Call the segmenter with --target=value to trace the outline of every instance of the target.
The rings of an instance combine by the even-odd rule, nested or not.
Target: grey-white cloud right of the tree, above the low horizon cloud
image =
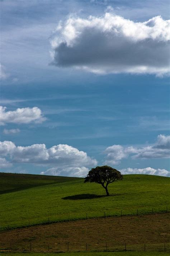
[[[124,158],[131,155],[132,158],[169,158],[170,157],[170,136],[158,135],[157,142],[143,148],[123,147],[113,145],[105,149],[105,164],[117,165]]]

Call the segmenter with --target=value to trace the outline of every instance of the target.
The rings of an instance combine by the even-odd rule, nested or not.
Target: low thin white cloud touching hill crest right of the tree
[[[120,170],[122,174],[150,174],[150,175],[159,175],[170,177],[170,171],[165,169],[154,169],[151,167],[137,169],[137,168],[127,168]]]

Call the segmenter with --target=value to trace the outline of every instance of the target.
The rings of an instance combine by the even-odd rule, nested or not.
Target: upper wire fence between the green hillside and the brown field
[[[38,223],[33,223],[32,221],[28,220],[27,223],[23,224],[23,225],[17,225],[17,226],[13,226],[12,224],[8,224],[6,226],[1,226],[0,227],[0,232],[4,232],[4,231],[10,231],[13,229],[17,229],[17,228],[27,228],[30,226],[37,226],[37,225],[47,225],[47,224],[52,224],[52,223],[60,223],[60,222],[68,222],[68,221],[76,221],[76,220],[85,220],[85,219],[94,219],[94,218],[103,218],[103,217],[122,217],[122,216],[138,216],[138,215],[148,215],[148,214],[163,214],[163,213],[168,213],[169,208],[166,206],[165,209],[160,210],[155,210],[154,208],[148,209],[147,211],[143,212],[142,209],[136,209],[136,211],[134,211],[133,213],[129,213],[127,214],[124,213],[124,210],[120,210],[119,212],[114,213],[108,213],[106,211],[104,211],[103,213],[101,213],[100,216],[93,216],[93,214],[85,212],[84,213],[84,217],[71,217],[70,214],[68,214],[68,217],[65,219],[57,219],[57,217],[54,219],[54,217],[47,217],[46,220],[43,220],[41,222]]]

